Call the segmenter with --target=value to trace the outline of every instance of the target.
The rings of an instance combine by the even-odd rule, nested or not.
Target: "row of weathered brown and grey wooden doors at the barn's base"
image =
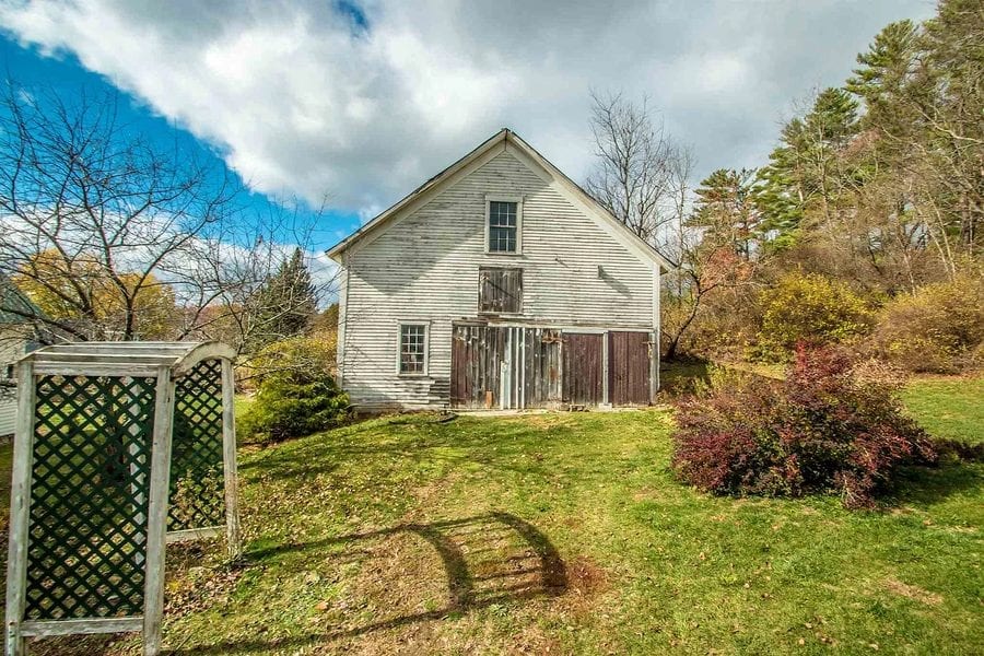
[[[456,324],[452,405],[489,409],[647,405],[649,335]]]

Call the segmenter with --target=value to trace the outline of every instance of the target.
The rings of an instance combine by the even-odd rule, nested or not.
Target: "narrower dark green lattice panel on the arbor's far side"
[[[167,530],[225,523],[222,363],[206,360],[176,382]]]

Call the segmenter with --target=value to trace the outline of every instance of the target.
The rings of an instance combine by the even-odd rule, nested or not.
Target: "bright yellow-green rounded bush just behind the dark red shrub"
[[[860,296],[813,273],[789,273],[759,301],[762,328],[752,355],[770,362],[788,361],[797,342],[842,342],[867,332],[871,324]]]

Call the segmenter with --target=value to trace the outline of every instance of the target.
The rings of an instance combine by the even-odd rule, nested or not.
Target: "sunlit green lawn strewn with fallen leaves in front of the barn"
[[[950,405],[973,433],[984,417],[970,391]],[[930,430],[960,430],[912,409]],[[670,430],[665,411],[406,415],[244,448],[246,558],[168,548],[165,642],[186,654],[981,653],[984,466],[910,471],[880,512],[713,497],[673,482]]]

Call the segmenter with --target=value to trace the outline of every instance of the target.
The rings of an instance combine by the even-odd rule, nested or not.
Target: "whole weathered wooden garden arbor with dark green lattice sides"
[[[154,656],[167,542],[221,535],[224,519],[239,555],[234,356],[86,342],[17,364],[8,656],[31,636],[141,630]]]

